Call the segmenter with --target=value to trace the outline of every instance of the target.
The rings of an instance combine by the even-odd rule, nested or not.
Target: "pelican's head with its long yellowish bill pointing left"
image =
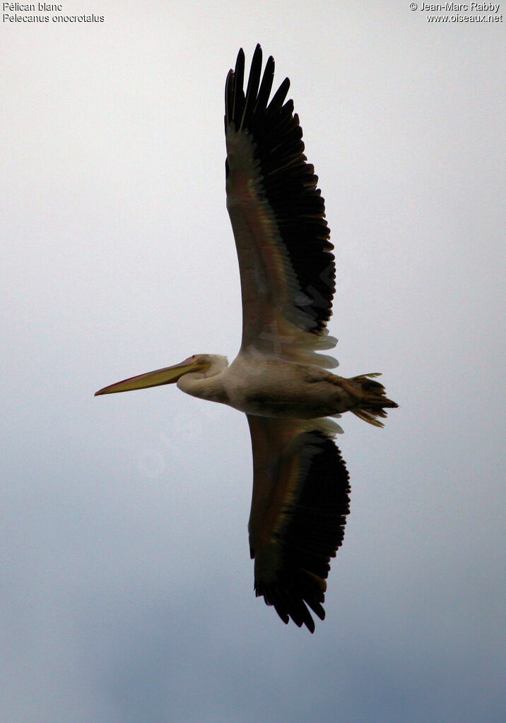
[[[214,376],[226,369],[227,365],[226,356],[219,356],[218,354],[193,354],[193,356],[188,356],[185,361],[174,364],[173,367],[155,369],[154,372],[140,374],[138,377],[130,377],[129,379],[124,379],[121,382],[116,382],[108,387],[99,389],[98,392],[95,393],[95,396],[173,384],[190,372],[203,372],[202,374],[198,374],[198,377]],[[197,377],[197,375],[195,375],[195,377]]]

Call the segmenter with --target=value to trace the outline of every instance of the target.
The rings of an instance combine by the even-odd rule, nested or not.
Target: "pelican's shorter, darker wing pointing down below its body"
[[[326,419],[248,416],[253,447],[250,552],[255,591],[288,623],[323,620],[330,558],[345,533],[348,473]],[[308,607],[307,607],[308,606]]]

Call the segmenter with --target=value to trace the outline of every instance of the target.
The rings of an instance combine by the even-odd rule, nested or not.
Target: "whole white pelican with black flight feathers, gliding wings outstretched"
[[[253,54],[246,92],[241,48],[225,86],[226,188],[240,268],[243,338],[232,364],[193,354],[180,364],[109,385],[96,395],[176,382],[248,419],[253,498],[248,525],[256,596],[313,633],[324,620],[330,558],[344,536],[349,478],[329,417],[351,411],[382,427],[387,398],[377,374],[345,379],[326,324],[335,291],[318,176],[285,78],[271,96],[274,59]]]

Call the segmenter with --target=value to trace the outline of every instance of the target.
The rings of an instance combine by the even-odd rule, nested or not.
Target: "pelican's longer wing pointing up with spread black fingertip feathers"
[[[227,208],[243,297],[241,351],[335,367],[326,322],[335,268],[318,176],[303,153],[302,129],[285,78],[271,100],[274,59],[263,76],[256,46],[246,93],[244,53],[225,88]]]

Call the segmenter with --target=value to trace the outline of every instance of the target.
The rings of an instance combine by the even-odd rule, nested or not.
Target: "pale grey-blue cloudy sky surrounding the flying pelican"
[[[505,22],[63,12],[105,22],[0,26],[2,719],[502,722]],[[93,398],[237,352],[223,90],[257,42],[326,199],[340,371],[400,403],[383,430],[342,419],[352,508],[314,636],[253,595],[244,417]]]

